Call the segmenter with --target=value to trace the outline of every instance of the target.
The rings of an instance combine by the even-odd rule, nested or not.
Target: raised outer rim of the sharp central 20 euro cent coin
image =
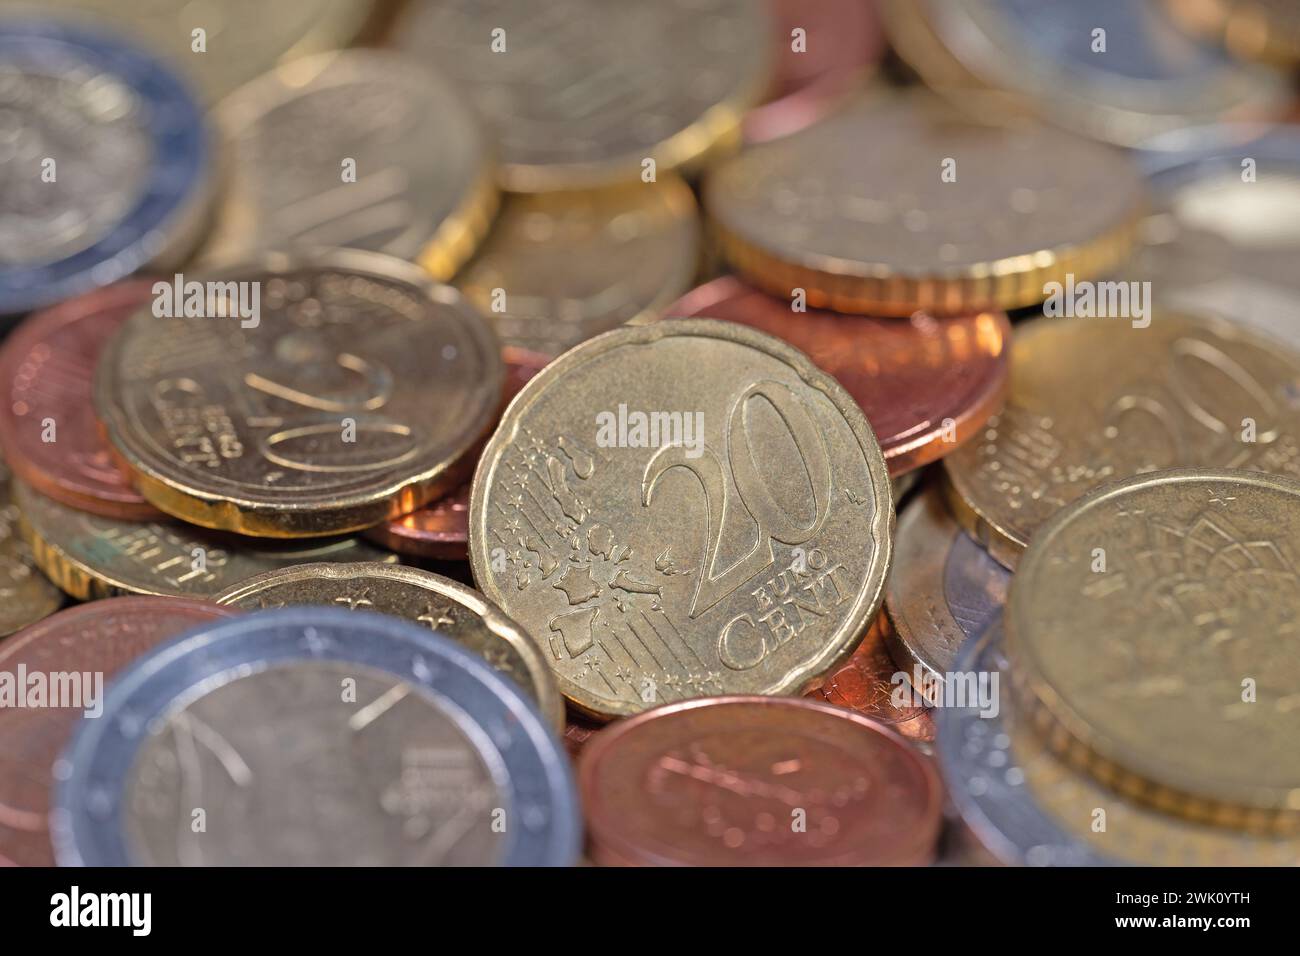
[[[853,654],[863,633],[866,633],[867,622],[875,617],[884,602],[884,585],[893,557],[893,483],[889,477],[889,468],[885,464],[884,454],[880,451],[880,444],[876,441],[875,432],[871,431],[871,425],[867,424],[867,419],[858,407],[858,403],[845,392],[844,386],[833,376],[827,375],[812,364],[812,360],[803,352],[774,336],[751,329],[748,325],[738,325],[722,319],[663,319],[650,325],[627,325],[586,339],[529,378],[506,408],[500,423],[497,425],[497,431],[493,432],[491,438],[488,440],[484,447],[482,455],[478,459],[478,467],[474,470],[474,479],[469,490],[469,567],[474,583],[489,601],[493,601],[510,614],[510,607],[506,602],[507,596],[497,587],[485,551],[488,493],[490,490],[495,459],[499,458],[502,447],[514,441],[520,418],[526,406],[533,402],[536,394],[571,369],[585,364],[590,358],[624,346],[653,346],[654,342],[670,337],[720,339],[754,349],[789,365],[790,371],[807,388],[820,392],[844,418],[846,427],[858,440],[867,473],[872,477],[876,511],[871,520],[872,537],[876,541],[878,554],[874,564],[879,567],[879,572],[872,575],[874,568],[868,564],[863,585],[858,591],[855,613],[824,643],[819,654],[807,663],[786,671],[767,692],[770,696],[797,696],[805,689],[814,687],[822,675],[833,671]],[[875,578],[874,583],[872,578]],[[547,663],[550,663],[549,657]],[[560,674],[555,674],[555,680],[566,700],[589,717],[607,721],[611,717],[629,717],[645,710],[645,708],[634,708],[630,704],[602,710],[592,702],[592,696],[585,688],[576,684],[571,685]]]

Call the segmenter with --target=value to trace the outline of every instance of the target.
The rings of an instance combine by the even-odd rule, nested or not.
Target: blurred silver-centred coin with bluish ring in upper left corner
[[[0,78],[0,315],[190,252],[212,198],[212,143],[170,66],[110,34],[6,20]]]

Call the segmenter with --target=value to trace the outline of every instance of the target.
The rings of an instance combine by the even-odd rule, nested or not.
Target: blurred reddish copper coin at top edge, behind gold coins
[[[770,5],[775,77],[768,101],[745,113],[741,129],[750,143],[820,120],[871,75],[885,47],[874,0],[771,0]]]

